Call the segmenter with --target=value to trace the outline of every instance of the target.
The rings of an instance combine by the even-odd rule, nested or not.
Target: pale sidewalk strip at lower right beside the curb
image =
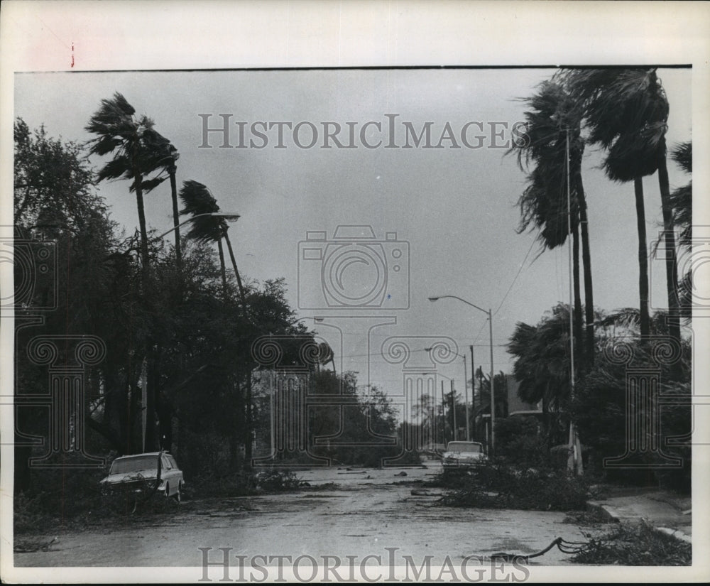
[[[664,490],[635,489],[587,501],[591,509],[603,512],[613,521],[647,521],[658,531],[691,543],[692,513],[690,497]]]

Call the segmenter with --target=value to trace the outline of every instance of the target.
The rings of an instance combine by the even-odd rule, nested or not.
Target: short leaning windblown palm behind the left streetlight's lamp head
[[[244,286],[241,283],[239,269],[236,266],[234,251],[231,248],[231,242],[229,242],[226,219],[223,217],[203,215],[219,212],[217,200],[214,199],[214,196],[209,192],[207,187],[193,180],[187,180],[182,183],[180,199],[184,205],[180,211],[180,215],[191,215],[194,218],[191,222],[192,227],[190,231],[187,232],[187,237],[195,239],[197,242],[217,242],[219,263],[222,267],[222,287],[226,294],[226,270],[224,265],[224,249],[222,247],[222,239],[224,238],[227,249],[229,249],[229,256],[232,267],[234,268],[236,283],[239,286],[239,298],[244,311],[246,311],[246,295],[244,293]]]

